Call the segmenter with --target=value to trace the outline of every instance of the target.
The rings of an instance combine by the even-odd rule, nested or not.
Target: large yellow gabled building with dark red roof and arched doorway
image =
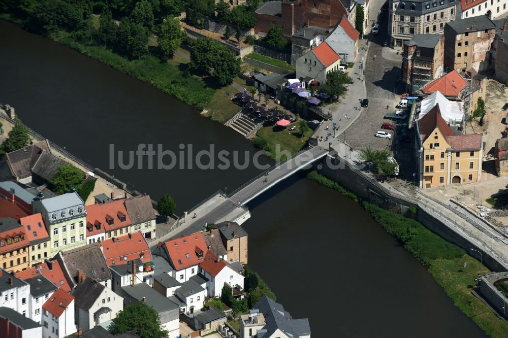
[[[415,123],[421,188],[480,181],[482,134],[463,135],[453,131],[441,116],[439,105]]]

